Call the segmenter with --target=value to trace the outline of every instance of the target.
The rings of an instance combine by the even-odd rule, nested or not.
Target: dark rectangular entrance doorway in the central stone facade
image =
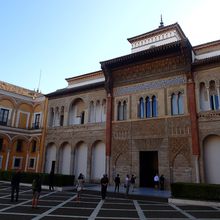
[[[154,187],[154,176],[158,173],[158,152],[140,151],[140,187]]]

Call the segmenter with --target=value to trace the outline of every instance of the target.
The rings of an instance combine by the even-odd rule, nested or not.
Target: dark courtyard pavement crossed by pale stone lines
[[[0,182],[0,220],[26,219],[220,219],[220,207],[173,205],[164,198],[108,193],[101,200],[99,192],[85,190],[80,201],[73,191],[43,190],[37,209],[31,208],[32,191],[21,186],[19,201],[10,201],[10,185]]]

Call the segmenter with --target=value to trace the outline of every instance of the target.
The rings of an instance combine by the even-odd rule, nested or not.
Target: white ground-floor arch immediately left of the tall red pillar
[[[100,180],[105,173],[105,144],[98,141],[92,148],[92,179]]]

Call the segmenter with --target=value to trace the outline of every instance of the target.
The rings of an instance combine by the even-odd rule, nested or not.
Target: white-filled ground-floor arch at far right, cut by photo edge
[[[220,137],[211,135],[203,142],[206,183],[220,184]]]

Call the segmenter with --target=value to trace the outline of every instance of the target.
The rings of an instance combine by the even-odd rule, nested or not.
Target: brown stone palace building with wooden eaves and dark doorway
[[[220,41],[192,47],[178,23],[48,94],[45,171],[220,183]]]

